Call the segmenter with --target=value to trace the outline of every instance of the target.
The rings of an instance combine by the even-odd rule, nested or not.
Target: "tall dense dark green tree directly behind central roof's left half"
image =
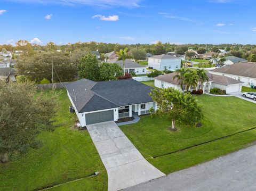
[[[95,55],[88,54],[79,60],[78,74],[80,78],[99,80],[99,61]]]

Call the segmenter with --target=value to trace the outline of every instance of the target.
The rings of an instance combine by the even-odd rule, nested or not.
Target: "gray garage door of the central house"
[[[114,111],[101,111],[85,114],[86,124],[101,123],[114,120]]]

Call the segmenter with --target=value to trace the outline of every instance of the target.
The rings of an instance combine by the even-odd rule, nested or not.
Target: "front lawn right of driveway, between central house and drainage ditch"
[[[168,130],[171,122],[150,116],[138,123],[121,126],[125,135],[145,157],[163,155],[182,148],[228,136],[256,127],[254,104],[236,97],[197,96],[203,105],[204,119],[200,128],[177,124],[178,131]]]

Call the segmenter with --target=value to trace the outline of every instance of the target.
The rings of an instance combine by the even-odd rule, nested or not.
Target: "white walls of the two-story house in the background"
[[[148,59],[148,67],[153,67],[156,70],[178,70],[180,69],[181,58],[177,57],[177,59]],[[176,68],[177,67],[177,68]]]

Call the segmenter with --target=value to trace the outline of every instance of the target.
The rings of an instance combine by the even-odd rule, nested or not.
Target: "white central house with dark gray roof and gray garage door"
[[[81,79],[67,86],[68,97],[81,126],[148,114],[156,110],[149,96],[152,87],[133,79],[91,81]]]

